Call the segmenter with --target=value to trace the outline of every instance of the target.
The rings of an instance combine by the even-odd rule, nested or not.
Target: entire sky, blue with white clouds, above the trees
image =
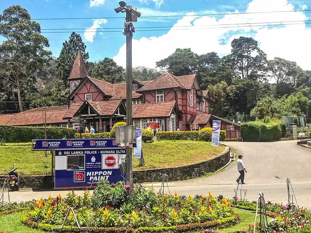
[[[54,57],[58,57],[62,43],[68,40],[70,29],[79,28],[90,61],[99,61],[104,57],[114,58],[119,64],[125,64],[125,36],[122,32],[84,33],[86,28],[93,26],[100,28],[122,28],[124,19],[108,19],[122,17],[116,14],[115,0],[2,0],[0,10],[11,5],[21,5],[26,8],[32,19],[39,18],[74,18],[99,17],[101,19],[81,20],[35,20],[44,29],[67,28],[68,33],[43,33],[49,39]],[[258,12],[311,9],[309,0],[132,0],[128,5],[138,8],[142,16],[213,14],[227,12]],[[166,18],[139,18],[134,24],[137,32],[133,38],[133,65],[155,67],[155,62],[167,57],[176,48],[191,48],[196,53],[217,52],[220,56],[230,53],[230,42],[239,36],[252,36],[257,39],[268,58],[275,56],[297,61],[304,69],[311,69],[310,62],[306,62],[304,54],[311,53],[310,25],[281,25],[261,27],[234,27],[221,29],[205,29],[208,25],[230,23],[265,23],[274,21],[303,21],[311,19],[311,11],[288,12],[274,14],[249,14],[227,16],[188,16]],[[303,22],[302,22],[303,23]],[[280,23],[282,24],[282,23]],[[138,27],[168,27],[165,31],[139,31]],[[172,29],[171,27],[174,28]],[[187,30],[183,26],[188,26]],[[197,28],[196,28],[197,27]],[[203,28],[202,28],[203,27]],[[211,26],[217,27],[217,26]],[[159,29],[159,28],[157,28]],[[161,28],[163,29],[163,28]],[[95,29],[90,29],[94,31]],[[122,29],[117,29],[122,31]],[[51,30],[59,31],[59,30]],[[92,36],[92,34],[94,34]],[[281,42],[281,43],[280,43]],[[284,49],[286,46],[286,49]],[[310,68],[309,68],[310,66]]]

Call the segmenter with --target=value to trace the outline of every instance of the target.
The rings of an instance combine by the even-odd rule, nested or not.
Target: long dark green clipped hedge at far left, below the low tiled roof
[[[7,143],[44,139],[44,132],[44,127],[0,125],[0,138],[3,138]],[[76,130],[71,128],[46,127],[47,139],[72,139],[75,133]]]

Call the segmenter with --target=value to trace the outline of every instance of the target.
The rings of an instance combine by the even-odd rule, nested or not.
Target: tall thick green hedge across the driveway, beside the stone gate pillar
[[[267,124],[249,121],[241,124],[241,136],[245,142],[264,142],[278,140],[284,136],[285,124]]]

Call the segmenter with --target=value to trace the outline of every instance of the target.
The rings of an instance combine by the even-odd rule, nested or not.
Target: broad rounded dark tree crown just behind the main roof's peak
[[[195,54],[190,48],[177,48],[169,57],[156,62],[156,65],[173,75],[180,76],[193,74],[195,63]]]

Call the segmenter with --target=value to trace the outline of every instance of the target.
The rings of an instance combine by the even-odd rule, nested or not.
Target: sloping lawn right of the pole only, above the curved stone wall
[[[143,143],[145,166],[138,167],[139,158],[133,159],[133,170],[176,167],[200,162],[223,152],[225,146],[211,146],[211,142],[201,141],[154,141]]]

